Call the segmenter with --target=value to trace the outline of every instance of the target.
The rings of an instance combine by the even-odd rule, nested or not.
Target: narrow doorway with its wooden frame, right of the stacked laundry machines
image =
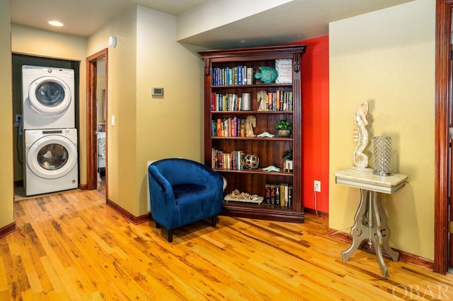
[[[108,199],[108,49],[88,57],[86,69],[87,188],[98,189]]]

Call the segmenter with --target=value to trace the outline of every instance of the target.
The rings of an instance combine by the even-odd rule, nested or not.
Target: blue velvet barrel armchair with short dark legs
[[[193,160],[169,158],[149,165],[148,182],[151,216],[157,228],[168,230],[168,242],[182,225],[212,218],[215,227],[223,200],[218,172]]]

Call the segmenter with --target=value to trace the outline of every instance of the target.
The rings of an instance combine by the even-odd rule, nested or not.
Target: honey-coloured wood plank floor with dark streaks
[[[327,222],[219,217],[174,231],[127,223],[98,191],[15,203],[0,239],[0,300],[453,300],[453,275],[386,259],[325,234]]]

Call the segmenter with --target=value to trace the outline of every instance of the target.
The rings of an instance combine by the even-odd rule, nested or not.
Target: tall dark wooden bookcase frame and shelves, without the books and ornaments
[[[287,45],[273,47],[254,47],[246,49],[207,50],[199,52],[205,61],[205,165],[214,167],[227,180],[225,196],[234,189],[248,194],[258,194],[265,198],[266,184],[287,184],[292,187],[291,206],[269,204],[264,200],[262,203],[247,203],[236,201],[224,201],[223,213],[227,216],[239,216],[244,218],[257,218],[265,220],[281,220],[296,223],[304,222],[304,206],[302,204],[302,97],[301,97],[301,59],[305,52],[305,45]],[[289,83],[263,83],[255,79],[255,73],[260,72],[259,66],[275,68],[275,61],[282,59],[292,60],[292,81]],[[231,81],[228,84],[219,82],[219,70],[253,69],[253,79],[250,77],[246,85]],[[239,73],[241,73],[239,71]],[[224,71],[227,73],[227,71]],[[289,73],[291,74],[291,73]],[[240,77],[240,76],[239,76]],[[225,76],[224,76],[225,78]],[[291,76],[289,76],[291,78]],[[242,80],[243,81],[243,80]],[[257,93],[265,90],[266,93],[285,94],[292,96],[292,110],[258,110]],[[283,92],[283,93],[282,93]],[[243,93],[251,93],[251,110],[222,110],[215,107],[213,97],[216,95],[237,95],[240,98]],[[289,96],[289,97],[291,97]],[[239,131],[234,131],[237,136],[216,136],[217,121],[225,119],[246,119],[249,115],[256,117],[256,127],[253,133],[258,135],[267,131],[275,134],[273,138],[244,137]],[[277,136],[274,129],[279,120],[287,120],[292,124],[292,134],[287,138]],[[214,129],[213,129],[214,126]],[[233,123],[231,126],[234,127]],[[214,133],[213,133],[214,131]],[[255,153],[260,160],[258,169],[242,170],[215,168],[213,165],[212,150],[232,153]],[[292,172],[284,171],[284,151],[293,152]],[[267,172],[264,167],[274,165],[280,168],[280,172]]]

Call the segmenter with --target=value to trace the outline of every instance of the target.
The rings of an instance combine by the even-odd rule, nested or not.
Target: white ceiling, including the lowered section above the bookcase
[[[228,0],[11,0],[11,23],[88,37],[136,5],[178,16],[207,1]],[[410,1],[293,0],[180,42],[213,49],[282,45],[328,35],[330,22]],[[51,19],[64,27],[48,25]]]

